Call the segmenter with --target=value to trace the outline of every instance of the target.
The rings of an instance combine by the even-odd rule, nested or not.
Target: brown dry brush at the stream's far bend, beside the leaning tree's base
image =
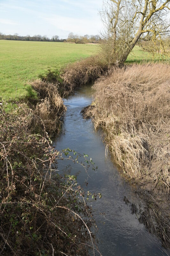
[[[108,69],[107,63],[100,55],[94,55],[69,64],[61,70],[63,91],[69,94],[78,86],[96,81]]]

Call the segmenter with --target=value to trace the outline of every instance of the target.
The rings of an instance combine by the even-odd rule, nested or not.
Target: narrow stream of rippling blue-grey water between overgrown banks
[[[120,176],[111,157],[105,156],[101,132],[95,132],[91,120],[84,120],[81,116],[81,109],[91,104],[91,101],[90,86],[77,89],[73,96],[64,99],[67,106],[64,131],[54,142],[54,146],[58,150],[71,148],[88,154],[98,166],[97,171],[89,169],[90,178],[81,169],[77,181],[83,185],[88,179],[88,187],[85,186],[84,189],[91,193],[102,193],[101,199],[90,202],[93,209],[96,209],[99,251],[103,256],[170,255],[170,252],[161,246],[159,239],[145,230],[144,225],[139,223],[137,216],[131,214],[130,207],[124,203],[124,196],[130,202],[140,202],[134,189]],[[80,171],[80,165],[68,161],[61,161],[58,169],[64,169],[67,164],[68,168],[72,168],[72,173]]]

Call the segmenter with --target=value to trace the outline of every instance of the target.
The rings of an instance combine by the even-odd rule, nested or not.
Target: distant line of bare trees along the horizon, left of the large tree
[[[0,40],[18,40],[18,41],[46,41],[46,42],[70,42],[75,44],[87,44],[87,43],[99,43],[102,39],[99,35],[84,35],[79,36],[73,34],[72,32],[68,35],[67,39],[60,39],[59,36],[52,36],[50,39],[48,36],[44,35],[34,35],[34,36],[19,36],[18,33],[14,35],[5,35],[0,32]]]

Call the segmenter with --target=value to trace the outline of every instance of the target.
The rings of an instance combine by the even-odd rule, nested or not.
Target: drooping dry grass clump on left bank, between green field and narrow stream
[[[41,119],[41,124],[46,132],[53,133],[56,130],[59,132],[66,107],[59,95],[58,84],[36,80],[32,83],[32,87],[42,99],[36,106],[36,113]]]

